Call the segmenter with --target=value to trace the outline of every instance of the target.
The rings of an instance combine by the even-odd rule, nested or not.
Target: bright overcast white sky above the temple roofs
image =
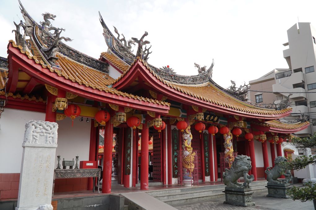
[[[57,17],[52,25],[65,28],[62,36],[94,58],[107,50],[98,11],[114,33],[140,38],[152,45],[149,63],[169,65],[178,74],[196,75],[194,62],[210,66],[213,80],[228,87],[257,79],[274,68],[288,68],[283,58],[287,30],[300,22],[316,26],[316,1],[78,1],[21,0],[38,23],[44,12]],[[7,57],[8,40],[22,19],[17,0],[0,0],[0,56]],[[134,50],[136,52],[137,49]]]

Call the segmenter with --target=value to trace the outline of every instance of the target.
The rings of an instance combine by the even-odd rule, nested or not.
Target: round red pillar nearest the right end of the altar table
[[[105,131],[104,131],[102,193],[111,193],[112,144],[113,144],[113,124],[111,124],[110,122],[107,122],[105,126]]]

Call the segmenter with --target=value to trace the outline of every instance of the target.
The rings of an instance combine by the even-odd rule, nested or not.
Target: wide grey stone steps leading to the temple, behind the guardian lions
[[[267,181],[256,181],[251,183],[253,191],[266,191]],[[222,192],[225,188],[224,184],[197,186],[178,189],[164,189],[147,192],[147,194],[163,201],[169,205],[176,205],[179,203],[187,203],[201,200],[209,200],[216,197],[224,196]]]

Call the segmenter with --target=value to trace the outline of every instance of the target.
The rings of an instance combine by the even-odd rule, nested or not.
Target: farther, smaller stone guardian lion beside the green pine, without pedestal
[[[267,181],[274,184],[280,184],[280,183],[289,183],[292,179],[292,174],[289,170],[285,170],[282,166],[282,162],[287,162],[288,160],[285,157],[277,156],[276,159],[274,159],[274,168],[271,169],[270,167],[267,167],[265,170],[265,173],[267,174]],[[285,176],[285,180],[278,179],[281,175]]]

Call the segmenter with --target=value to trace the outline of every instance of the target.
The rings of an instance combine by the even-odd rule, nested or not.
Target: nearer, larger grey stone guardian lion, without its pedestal
[[[237,155],[230,169],[225,168],[223,172],[224,184],[231,188],[248,188],[253,181],[253,175],[249,175],[251,169],[250,157],[246,155]],[[237,182],[240,177],[244,177],[243,184]]]

